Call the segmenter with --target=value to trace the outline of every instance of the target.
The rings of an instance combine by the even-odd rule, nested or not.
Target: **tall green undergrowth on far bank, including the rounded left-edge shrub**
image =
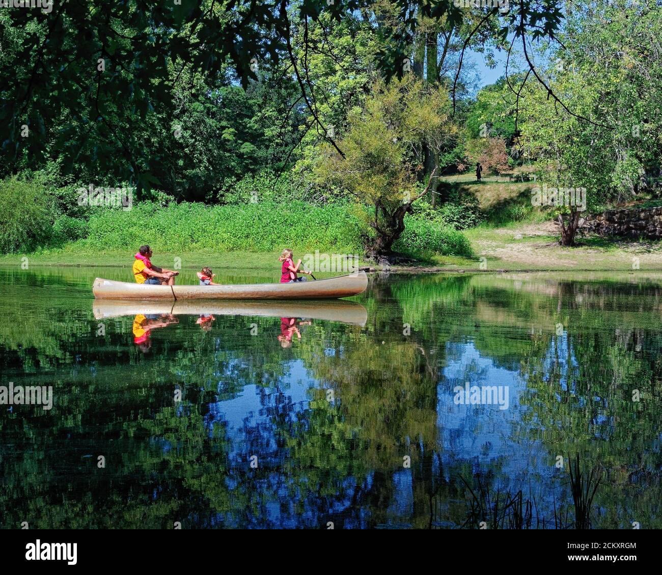
[[[52,189],[17,177],[0,181],[0,253],[50,248],[101,251],[275,251],[284,247],[363,253],[373,236],[351,202],[263,201],[210,206],[142,201],[132,209],[79,206],[75,187]],[[363,214],[365,215],[365,214]],[[469,242],[449,226],[407,217],[398,251],[470,255]]]

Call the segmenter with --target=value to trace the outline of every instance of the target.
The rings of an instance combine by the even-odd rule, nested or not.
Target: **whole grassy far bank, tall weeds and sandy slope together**
[[[459,198],[459,216],[467,218],[465,195],[477,200],[478,204],[466,204],[466,210],[479,210],[481,223],[459,232],[443,220],[426,220],[430,214],[407,216],[395,249],[415,261],[395,266],[396,271],[662,270],[660,242],[579,238],[577,247],[559,246],[558,229],[549,222],[549,214],[531,206],[530,181],[490,176],[477,183],[473,175],[459,175],[446,178],[446,183]],[[70,229],[68,239],[24,250],[27,254],[0,255],[0,265],[20,266],[26,256],[28,265],[128,268],[138,246],[149,243],[154,262],[162,267],[177,267],[179,258],[182,269],[209,265],[219,271],[270,273],[278,267],[283,247],[292,247],[301,258],[315,250],[360,255],[369,234],[356,206],[348,203],[141,202],[127,212],[91,208],[84,218],[66,218],[76,225],[68,228],[60,222],[56,231]]]

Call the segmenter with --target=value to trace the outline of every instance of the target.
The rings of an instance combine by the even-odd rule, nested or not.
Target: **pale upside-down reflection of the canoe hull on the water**
[[[94,317],[115,318],[117,316],[136,316],[144,314],[199,315],[213,314],[218,316],[268,316],[279,318],[310,318],[343,322],[363,326],[367,321],[365,308],[357,302],[337,300],[304,301],[304,302],[126,302],[124,300],[95,300],[93,304]]]

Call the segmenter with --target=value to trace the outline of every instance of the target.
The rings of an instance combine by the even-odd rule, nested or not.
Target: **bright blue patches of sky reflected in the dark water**
[[[448,343],[446,351],[447,357],[453,359],[447,361],[437,388],[437,451],[444,468],[471,461],[474,472],[495,472],[498,478],[495,487],[512,492],[521,489],[525,497],[529,496],[531,488],[531,495],[538,502],[541,498],[551,501],[551,488],[558,502],[563,494],[558,489],[561,473],[553,466],[556,454],[547,453],[538,441],[527,439],[523,433],[526,427],[522,427],[522,415],[527,408],[520,405],[520,397],[526,392],[526,381],[518,372],[498,367],[492,359],[481,355],[473,341]],[[557,351],[561,363],[567,361],[565,338],[558,350],[550,347],[545,369],[551,369]],[[296,527],[299,521],[294,509],[295,500],[291,500],[287,474],[281,468],[283,458],[287,457],[286,450],[277,443],[274,418],[280,416],[292,421],[297,414],[303,414],[308,409],[309,390],[318,384],[310,378],[302,361],[289,361],[286,367],[277,388],[269,390],[247,384],[237,396],[209,404],[205,424],[210,434],[214,426],[224,426],[231,443],[228,452],[231,466],[247,466],[250,455],[258,455],[261,467],[273,469],[265,481],[275,490],[278,499],[265,506],[268,520],[283,527]],[[228,372],[231,373],[232,369]],[[456,405],[453,388],[464,386],[465,382],[477,386],[508,386],[508,409],[500,410],[498,404]],[[218,392],[222,394],[223,391],[221,378]],[[514,436],[517,429],[520,432]],[[435,458],[435,474],[439,471],[439,463]],[[467,476],[466,479],[470,478]],[[412,470],[395,470],[391,481],[393,499],[387,509],[388,525],[404,526],[414,512]],[[348,476],[343,483],[345,489],[341,492],[350,494],[355,486],[354,478]],[[366,486],[370,484],[371,476]],[[233,485],[234,480],[228,480],[228,486]],[[351,506],[351,501],[339,496],[331,505],[329,514],[340,513]],[[226,517],[224,522],[232,520],[232,517]]]

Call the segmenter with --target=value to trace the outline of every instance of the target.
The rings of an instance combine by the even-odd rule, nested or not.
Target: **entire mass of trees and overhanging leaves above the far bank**
[[[100,216],[79,209],[75,189],[89,185],[133,187],[136,207],[354,202],[362,228],[340,245],[358,235],[375,257],[389,255],[424,189],[432,210],[419,220],[479,224],[475,202],[431,177],[476,162],[487,175],[538,161],[542,181],[583,185],[592,206],[658,193],[654,0],[568,5],[565,16],[547,0],[507,12],[428,0],[258,4],[1,11],[0,177],[46,191],[3,215],[0,250],[86,238]],[[514,50],[508,75],[477,91],[465,50],[487,66]],[[528,211],[519,203],[515,218]],[[244,249],[263,243],[240,237]]]

